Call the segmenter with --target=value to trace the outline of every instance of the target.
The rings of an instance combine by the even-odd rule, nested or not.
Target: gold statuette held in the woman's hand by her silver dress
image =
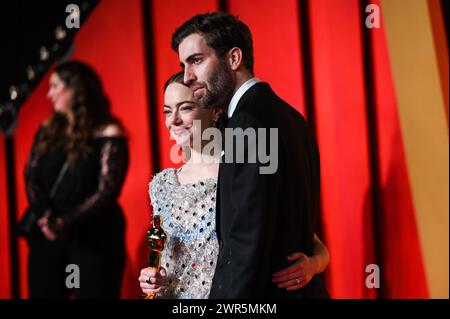
[[[150,252],[148,254],[148,269],[159,270],[161,267],[161,252],[164,249],[167,241],[167,235],[162,229],[162,216],[153,215],[152,228],[147,232],[148,246]],[[156,293],[147,294],[144,299],[155,299]]]

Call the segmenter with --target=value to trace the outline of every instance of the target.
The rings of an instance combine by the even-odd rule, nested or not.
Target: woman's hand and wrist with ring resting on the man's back
[[[323,272],[330,261],[330,254],[328,248],[314,234],[313,255],[308,257],[301,252],[295,252],[288,256],[288,260],[295,262],[275,273],[272,281],[277,283],[279,288],[292,291],[303,288],[314,275]]]

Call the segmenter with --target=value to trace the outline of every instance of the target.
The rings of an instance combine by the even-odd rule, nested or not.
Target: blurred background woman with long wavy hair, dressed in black
[[[30,297],[74,292],[76,298],[117,298],[125,260],[125,221],[117,203],[128,168],[124,129],[84,63],[56,67],[48,97],[55,112],[40,126],[25,169],[30,208],[41,216],[38,232],[28,238]],[[79,288],[66,285],[71,264],[79,269]]]

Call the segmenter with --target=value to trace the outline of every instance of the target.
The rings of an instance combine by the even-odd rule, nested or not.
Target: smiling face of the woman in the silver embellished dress
[[[192,147],[193,136],[199,129],[194,126],[194,120],[200,121],[203,132],[213,126],[218,111],[199,107],[190,88],[172,83],[164,93],[164,114],[166,127],[175,142]]]

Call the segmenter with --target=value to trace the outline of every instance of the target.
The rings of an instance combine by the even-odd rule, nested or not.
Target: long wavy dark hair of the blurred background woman
[[[95,129],[110,123],[121,128],[123,126],[111,114],[110,102],[100,78],[90,66],[79,61],[69,61],[58,65],[54,72],[66,87],[73,90],[71,112],[74,123],[70,132],[67,132],[67,118],[54,112],[42,126],[37,152],[40,157],[67,141],[68,160],[73,165],[83,153],[91,151],[88,140]]]

